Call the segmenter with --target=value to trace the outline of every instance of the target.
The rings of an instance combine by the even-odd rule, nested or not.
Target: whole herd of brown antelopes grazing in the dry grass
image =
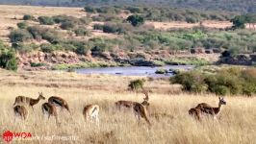
[[[148,92],[143,89],[143,93],[145,95],[145,98],[143,98],[143,101],[141,103],[133,102],[133,101],[117,101],[115,102],[115,107],[118,110],[121,110],[122,108],[129,108],[134,111],[135,117],[138,120],[138,123],[141,122],[141,118],[145,120],[145,122],[151,126],[151,122],[148,119],[147,110],[149,107],[149,97]],[[13,111],[15,117],[21,117],[21,119],[26,120],[28,117],[28,109],[26,106],[33,108],[34,105],[38,104],[39,100],[45,100],[45,97],[43,97],[42,93],[38,93],[38,99],[33,99],[25,96],[17,96],[15,98],[15,102],[13,104]],[[196,120],[201,120],[203,116],[212,116],[214,119],[217,119],[217,116],[219,112],[221,111],[221,106],[226,105],[226,102],[224,98],[218,97],[218,108],[211,107],[210,105],[206,103],[198,104],[195,108],[191,108],[189,110],[189,114],[192,115]],[[66,109],[70,114],[70,110],[68,107],[67,102],[57,96],[51,96],[48,98],[48,102],[43,103],[41,105],[41,110],[43,115],[47,116],[48,119],[51,116],[55,117],[56,124],[60,124],[58,120],[58,112],[57,108]],[[85,106],[83,109],[83,115],[85,118],[85,121],[88,122],[96,122],[97,125],[99,125],[99,106],[92,104]],[[34,108],[33,108],[34,110]]]

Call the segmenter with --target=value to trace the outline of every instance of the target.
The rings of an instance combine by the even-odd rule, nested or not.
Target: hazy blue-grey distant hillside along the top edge
[[[231,12],[256,12],[255,0],[0,0],[0,4],[81,7],[84,5],[150,5]]]

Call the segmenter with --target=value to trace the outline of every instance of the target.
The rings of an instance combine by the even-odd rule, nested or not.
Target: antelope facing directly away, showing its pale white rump
[[[95,121],[99,125],[99,106],[98,105],[88,105],[83,109],[83,115],[86,121]]]

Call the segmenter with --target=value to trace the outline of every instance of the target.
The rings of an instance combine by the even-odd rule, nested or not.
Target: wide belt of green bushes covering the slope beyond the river
[[[34,16],[30,15],[29,17]],[[41,26],[28,26],[27,22],[20,22],[18,23],[19,29],[13,30],[10,34],[16,50],[32,51],[37,47],[21,43],[32,39],[45,39],[51,44],[41,44],[39,48],[46,53],[63,50],[84,55],[91,51],[92,55],[98,55],[106,51],[112,52],[114,47],[119,47],[125,51],[135,51],[142,48],[144,50],[189,50],[192,53],[194,48],[202,47],[206,49],[205,51],[209,51],[208,53],[219,53],[222,50],[227,50],[232,55],[256,52],[256,42],[254,40],[256,33],[253,31],[223,31],[204,27],[159,31],[150,26],[142,25],[143,17],[137,14],[129,16],[125,21],[109,21],[103,25],[95,24],[93,26],[94,29],[101,30],[104,33],[121,35],[118,38],[89,38],[88,40],[64,38],[66,35],[90,36],[90,31],[86,29],[85,25],[88,25],[91,19],[87,17],[40,16],[38,21],[41,25],[59,24],[60,29],[67,30],[68,33],[64,34],[56,29]],[[136,27],[129,24],[130,22]]]

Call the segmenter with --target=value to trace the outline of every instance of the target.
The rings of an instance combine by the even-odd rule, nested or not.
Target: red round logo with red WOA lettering
[[[17,138],[27,138],[27,137],[32,137],[30,132],[4,132],[3,133],[3,139],[6,142],[10,142],[13,140],[13,137],[17,137]]]

